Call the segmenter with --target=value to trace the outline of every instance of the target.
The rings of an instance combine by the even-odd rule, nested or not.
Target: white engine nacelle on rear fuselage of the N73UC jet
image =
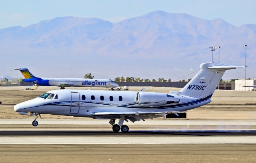
[[[137,92],[135,97],[136,103],[144,106],[159,106],[170,103],[179,103],[180,99],[166,93],[154,92]]]

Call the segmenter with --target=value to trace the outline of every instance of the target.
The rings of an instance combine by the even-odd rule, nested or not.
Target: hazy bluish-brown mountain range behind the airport
[[[30,68],[40,77],[97,78],[134,76],[178,78],[202,62],[244,65],[247,44],[248,76],[254,76],[256,25],[236,27],[218,18],[154,11],[112,23],[98,18],[59,17],[37,24],[0,29],[2,75]],[[175,69],[176,68],[176,69]],[[178,70],[177,70],[178,69]],[[242,78],[233,70],[224,78]],[[188,77],[186,77],[188,78]]]

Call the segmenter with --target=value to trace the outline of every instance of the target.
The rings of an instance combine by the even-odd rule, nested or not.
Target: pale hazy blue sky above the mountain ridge
[[[222,18],[235,26],[256,24],[256,0],[2,0],[0,28],[28,26],[60,16],[97,17],[110,22],[155,10]]]

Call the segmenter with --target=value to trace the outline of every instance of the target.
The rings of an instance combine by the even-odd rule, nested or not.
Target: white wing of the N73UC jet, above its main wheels
[[[120,117],[125,117],[126,119],[129,119],[130,121],[140,121],[141,119],[145,121],[145,119],[153,119],[156,117],[163,117],[167,114],[177,114],[177,111],[164,111],[164,112],[158,112],[158,111],[151,111],[151,112],[94,112],[91,113],[92,116],[94,116],[96,119],[116,119]]]

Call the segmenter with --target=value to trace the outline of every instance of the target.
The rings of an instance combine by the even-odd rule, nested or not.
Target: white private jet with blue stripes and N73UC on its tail
[[[68,115],[110,119],[112,129],[128,132],[124,121],[140,121],[176,114],[206,105],[211,102],[225,70],[244,66],[228,66],[218,63],[204,63],[200,71],[181,90],[170,93],[142,91],[100,91],[62,89],[48,91],[35,99],[19,103],[14,111],[22,115],[34,115],[33,126],[38,125],[38,115]],[[41,116],[40,116],[41,117]],[[118,124],[115,124],[119,119]]]

